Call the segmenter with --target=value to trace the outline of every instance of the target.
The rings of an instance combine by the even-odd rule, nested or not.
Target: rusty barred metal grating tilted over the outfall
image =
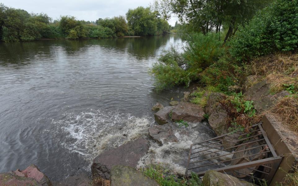
[[[192,144],[185,175],[203,176],[207,170],[216,170],[246,180],[265,179],[270,184],[281,160],[258,123],[247,133],[239,130]]]

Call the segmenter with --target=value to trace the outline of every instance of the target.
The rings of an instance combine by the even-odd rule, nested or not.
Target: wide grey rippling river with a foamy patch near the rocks
[[[157,94],[147,73],[175,35],[0,43],[0,172],[36,164],[51,179],[146,133]],[[160,147],[156,147],[160,148]],[[144,157],[145,158],[145,157]]]

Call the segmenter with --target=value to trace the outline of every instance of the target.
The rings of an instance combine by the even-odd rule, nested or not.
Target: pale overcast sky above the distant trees
[[[72,15],[78,20],[96,21],[98,18],[125,15],[129,8],[148,7],[153,0],[0,0],[7,7],[20,8],[29,13],[46,13],[53,20],[60,15]],[[168,21],[174,26],[177,17]]]

